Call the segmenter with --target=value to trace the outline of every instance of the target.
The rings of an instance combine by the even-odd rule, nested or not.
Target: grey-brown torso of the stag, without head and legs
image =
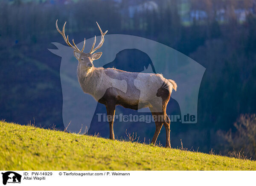
[[[140,75],[140,78],[138,78]],[[104,96],[106,90],[116,99],[116,105],[122,105],[125,108],[138,110],[139,102],[142,107],[149,107],[152,100],[157,94],[156,87],[161,87],[168,80],[160,74],[153,73],[131,73],[114,68],[96,68],[91,67],[89,73],[78,66],[77,72],[78,81],[84,93],[88,93],[99,101]],[[126,84],[119,84],[115,80],[125,80]],[[169,85],[171,82],[169,82]],[[169,92],[172,92],[172,84],[168,87]],[[127,87],[127,88],[126,88]],[[140,90],[136,87],[140,87]],[[142,93],[145,90],[145,93]],[[103,94],[102,94],[103,93]],[[99,96],[100,95],[100,96]]]

